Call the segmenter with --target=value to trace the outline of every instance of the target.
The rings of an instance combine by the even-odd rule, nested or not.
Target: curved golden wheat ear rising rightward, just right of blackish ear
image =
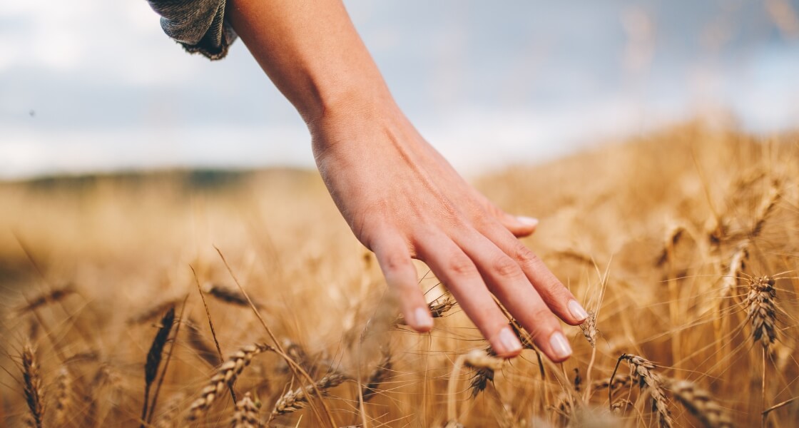
[[[193,421],[205,414],[217,396],[225,390],[225,386],[233,387],[233,383],[244,371],[244,367],[247,367],[256,355],[266,351],[274,351],[274,348],[265,343],[254,343],[231,355],[225,363],[222,363],[208,385],[200,391],[200,398],[194,400],[189,406],[188,420]]]

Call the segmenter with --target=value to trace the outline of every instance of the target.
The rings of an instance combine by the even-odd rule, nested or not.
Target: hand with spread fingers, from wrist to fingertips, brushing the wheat
[[[492,295],[547,357],[555,362],[569,357],[555,315],[573,325],[588,315],[516,239],[534,232],[537,220],[491,204],[391,102],[345,104],[309,128],[333,200],[360,242],[375,252],[409,326],[433,327],[411,262],[418,259],[447,286],[498,355],[517,355],[522,345]]]

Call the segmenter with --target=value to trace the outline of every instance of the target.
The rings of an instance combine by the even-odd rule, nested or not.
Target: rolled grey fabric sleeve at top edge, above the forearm
[[[225,0],[148,0],[161,15],[166,35],[194,54],[221,59],[236,40],[236,32],[225,22]]]

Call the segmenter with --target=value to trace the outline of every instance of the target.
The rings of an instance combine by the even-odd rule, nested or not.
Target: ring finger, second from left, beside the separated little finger
[[[507,325],[507,318],[494,303],[477,267],[447,236],[432,236],[419,243],[419,258],[449,288],[469,319],[488,339],[497,355],[512,357],[522,343]]]

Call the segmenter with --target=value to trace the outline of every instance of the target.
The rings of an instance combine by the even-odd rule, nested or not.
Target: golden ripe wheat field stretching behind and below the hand
[[[316,172],[0,184],[0,426],[799,421],[796,136],[689,123],[475,185],[591,311],[566,363],[493,357],[423,264],[412,332]]]

